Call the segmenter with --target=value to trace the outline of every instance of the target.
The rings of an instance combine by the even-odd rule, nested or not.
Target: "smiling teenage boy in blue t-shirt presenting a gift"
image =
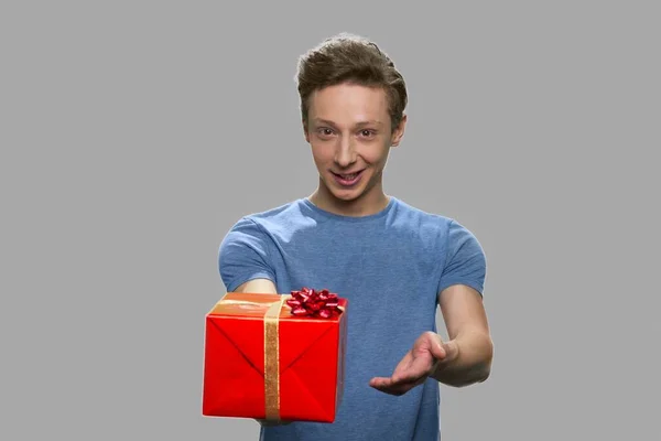
[[[228,292],[310,287],[347,298],[345,395],[334,423],[260,421],[260,439],[438,440],[438,384],[467,386],[490,372],[485,254],[458,222],[383,192],[408,100],[387,54],[339,34],[300,57],[296,79],[318,186],[238,220],[219,271]]]

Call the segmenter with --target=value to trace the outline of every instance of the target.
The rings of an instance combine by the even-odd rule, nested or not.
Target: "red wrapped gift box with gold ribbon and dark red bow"
[[[330,294],[334,300],[323,308],[321,292],[328,294],[229,292],[216,303],[206,315],[204,416],[335,420],[344,391],[348,302]],[[317,302],[303,302],[304,309],[300,301],[310,293]]]

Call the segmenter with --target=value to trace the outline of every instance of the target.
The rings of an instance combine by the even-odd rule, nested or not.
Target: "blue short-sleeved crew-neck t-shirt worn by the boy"
[[[436,380],[399,397],[371,388],[369,380],[390,376],[422,333],[436,331],[442,290],[462,283],[483,294],[486,259],[468,229],[393,196],[384,209],[364,217],[300,198],[241,218],[220,244],[218,263],[228,292],[266,278],[280,293],[326,288],[349,302],[336,421],[262,428],[261,440],[438,440]]]

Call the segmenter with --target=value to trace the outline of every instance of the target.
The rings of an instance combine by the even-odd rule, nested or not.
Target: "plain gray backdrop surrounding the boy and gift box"
[[[262,3],[2,2],[0,438],[257,439],[201,416],[217,248],[314,190],[295,62],[342,31],[409,85],[386,191],[487,254],[444,440],[659,437],[658,3]]]

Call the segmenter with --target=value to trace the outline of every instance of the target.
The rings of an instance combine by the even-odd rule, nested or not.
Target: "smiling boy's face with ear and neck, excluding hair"
[[[313,93],[305,139],[319,172],[319,194],[333,200],[325,203],[381,202],[382,172],[404,125],[405,118],[391,129],[382,88],[340,84]]]

